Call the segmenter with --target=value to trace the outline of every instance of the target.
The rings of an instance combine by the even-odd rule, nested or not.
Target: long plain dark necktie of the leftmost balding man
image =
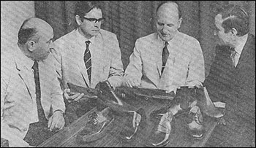
[[[36,96],[37,96],[37,113],[39,122],[45,122],[45,113],[42,109],[41,104],[41,90],[40,90],[40,81],[39,81],[39,69],[38,69],[38,63],[37,61],[34,61],[34,65],[32,66],[32,69],[34,69],[34,83],[36,85]]]

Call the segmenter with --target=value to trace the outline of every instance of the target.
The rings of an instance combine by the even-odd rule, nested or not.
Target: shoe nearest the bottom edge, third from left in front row
[[[154,122],[148,141],[147,147],[164,147],[170,141],[170,133],[174,128],[174,116],[172,112],[165,112],[166,109],[159,109],[152,112],[150,117]]]

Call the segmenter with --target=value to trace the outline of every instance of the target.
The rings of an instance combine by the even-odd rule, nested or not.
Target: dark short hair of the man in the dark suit
[[[232,28],[236,28],[236,31],[238,31],[237,36],[244,36],[249,33],[249,16],[242,7],[229,4],[222,7],[219,14],[222,15],[224,20],[222,27],[225,29],[225,33]]]

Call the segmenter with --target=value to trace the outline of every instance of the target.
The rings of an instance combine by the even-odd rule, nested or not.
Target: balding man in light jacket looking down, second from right
[[[200,85],[204,81],[200,43],[178,31],[181,21],[178,4],[169,1],[159,5],[157,33],[135,42],[124,74],[124,85],[176,91],[177,87]]]

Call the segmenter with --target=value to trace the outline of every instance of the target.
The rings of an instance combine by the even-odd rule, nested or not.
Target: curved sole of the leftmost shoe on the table
[[[108,131],[110,131],[113,128],[113,121],[115,120],[115,117],[108,123],[108,125],[105,125],[105,127],[102,128],[102,131],[99,131],[99,133],[94,133],[89,136],[82,136],[80,135],[80,132],[77,135],[77,139],[80,142],[88,143],[91,141],[96,141],[98,139],[101,139],[106,135]]]

